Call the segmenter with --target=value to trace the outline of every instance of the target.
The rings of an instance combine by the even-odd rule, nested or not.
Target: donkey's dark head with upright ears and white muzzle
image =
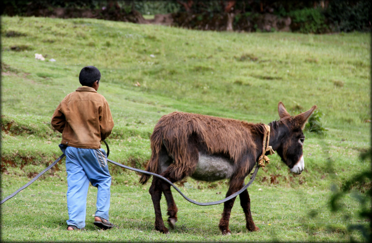
[[[292,173],[301,174],[304,170],[304,156],[302,146],[305,136],[302,132],[305,124],[314,110],[314,105],[310,110],[299,115],[291,116],[286,111],[282,102],[278,104],[279,121],[270,123],[272,133],[270,136],[270,145],[276,150],[284,163],[288,165]]]

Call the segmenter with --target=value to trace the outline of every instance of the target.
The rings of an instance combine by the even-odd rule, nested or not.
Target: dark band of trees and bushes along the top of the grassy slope
[[[8,16],[87,17],[215,31],[329,33],[371,29],[368,0],[5,0],[1,9]],[[149,14],[155,15],[154,19],[142,16]]]

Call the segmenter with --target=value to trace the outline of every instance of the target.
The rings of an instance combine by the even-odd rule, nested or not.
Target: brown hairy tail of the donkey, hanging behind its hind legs
[[[152,173],[158,173],[158,165],[159,165],[159,153],[161,150],[161,145],[163,141],[161,140],[161,136],[159,136],[158,132],[153,132],[153,135],[151,135],[151,159],[147,163],[146,171],[152,172]],[[148,179],[150,179],[151,175],[142,174],[140,178],[140,183],[146,184]]]

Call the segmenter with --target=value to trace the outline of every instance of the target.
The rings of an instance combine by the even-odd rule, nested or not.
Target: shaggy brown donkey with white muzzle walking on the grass
[[[269,124],[269,145],[292,173],[301,174],[304,170],[302,146],[305,136],[302,129],[316,108],[314,105],[306,112],[291,116],[279,102],[280,119]],[[262,156],[265,126],[235,119],[172,112],[162,116],[155,125],[150,138],[152,154],[146,170],[171,182],[186,176],[204,181],[230,179],[226,197],[230,196],[244,186],[244,178]],[[149,178],[150,175],[143,174],[140,182],[145,184]],[[154,177],[149,192],[155,209],[155,229],[169,233],[161,217],[160,199],[163,192],[168,205],[169,227],[174,228],[178,209],[170,185]],[[259,230],[252,219],[248,191],[243,191],[239,197],[246,216],[246,228],[249,231]],[[219,221],[219,229],[224,235],[231,234],[228,224],[234,201],[235,198],[232,198],[224,203]]]

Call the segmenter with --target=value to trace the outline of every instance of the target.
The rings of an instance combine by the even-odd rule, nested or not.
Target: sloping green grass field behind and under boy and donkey
[[[171,234],[154,230],[154,210],[139,175],[110,165],[110,221],[94,228],[96,188],[88,193],[87,231],[66,231],[64,160],[1,205],[1,240],[11,241],[324,241],[362,242],[357,227],[371,207],[356,184],[332,211],[330,198],[347,180],[368,171],[370,159],[371,35],[336,33],[230,33],[136,25],[96,19],[1,18],[1,199],[60,156],[61,135],[50,125],[58,103],[80,84],[82,67],[94,65],[99,93],[115,127],[106,140],[110,159],[144,168],[158,119],[184,111],[269,122],[282,101],[295,115],[318,106],[325,135],[305,131],[305,171],[292,175],[277,155],[248,188],[253,220],[245,228],[239,199],[231,236],[218,229],[223,205],[200,207],[174,194],[179,221]],[[35,53],[45,61],[35,60]],[[49,61],[54,58],[56,61]],[[247,181],[247,179],[246,179]],[[178,183],[196,201],[217,201],[227,181]],[[162,199],[163,218],[166,202]],[[357,226],[357,227],[355,227]]]

